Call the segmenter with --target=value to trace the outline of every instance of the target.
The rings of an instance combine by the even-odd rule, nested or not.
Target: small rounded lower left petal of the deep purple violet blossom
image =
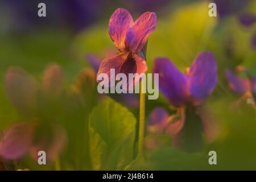
[[[148,118],[147,133],[163,134],[164,127],[168,123],[169,114],[163,107],[156,107]]]

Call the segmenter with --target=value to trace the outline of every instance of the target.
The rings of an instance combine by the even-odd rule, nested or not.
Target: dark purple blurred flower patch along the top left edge
[[[38,4],[45,3],[47,16],[38,16]],[[10,28],[18,31],[35,27],[65,26],[73,30],[82,30],[92,24],[100,14],[102,0],[5,0],[2,6],[10,13]]]

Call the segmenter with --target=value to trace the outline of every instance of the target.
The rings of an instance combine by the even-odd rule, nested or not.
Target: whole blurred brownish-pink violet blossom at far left
[[[66,143],[66,133],[52,116],[51,104],[61,97],[63,75],[59,65],[51,64],[44,71],[43,83],[39,85],[34,77],[19,67],[10,67],[5,77],[5,89],[11,103],[20,114],[26,115],[27,122],[19,122],[3,132],[0,142],[0,156],[3,159],[20,159],[30,152],[38,159],[38,151],[47,152],[51,161],[59,155]],[[44,109],[40,108],[43,107]],[[55,110],[57,110],[55,105]],[[56,114],[56,113],[55,113]],[[40,132],[47,132],[47,136]]]

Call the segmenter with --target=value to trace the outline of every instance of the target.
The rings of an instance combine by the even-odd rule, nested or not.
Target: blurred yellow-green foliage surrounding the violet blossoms
[[[93,96],[70,94],[65,100],[67,109],[63,112],[63,125],[69,140],[67,149],[60,156],[63,169],[256,169],[255,109],[246,104],[231,107],[238,96],[228,89],[225,78],[225,69],[235,68],[238,64],[256,75],[256,51],[250,47],[255,27],[242,27],[237,15],[222,20],[211,18],[208,10],[208,2],[204,1],[180,5],[173,11],[167,11],[166,16],[160,16],[156,31],[148,40],[147,65],[148,72],[151,72],[154,58],[167,56],[184,71],[200,51],[214,53],[219,81],[206,105],[220,126],[218,138],[210,144],[203,139],[203,149],[189,153],[169,146],[166,144],[168,139],[162,137],[165,141],[163,146],[147,150],[144,156],[135,159],[138,111],[126,109],[110,99],[101,103],[87,102],[88,97],[98,97],[96,90]],[[255,1],[251,2],[247,11],[256,12]],[[76,36],[69,35],[65,30],[40,30],[25,35],[1,34],[0,38],[1,130],[27,119],[15,110],[6,96],[3,80],[9,66],[22,67],[40,80],[47,64],[60,64],[65,75],[65,88],[69,92],[80,69],[89,67],[84,57],[86,53],[95,53],[104,59],[104,51],[116,51],[105,20]],[[81,104],[81,97],[84,105]],[[172,112],[161,95],[158,100],[146,101],[146,117],[156,106],[164,106]],[[189,124],[193,126],[192,122]],[[216,166],[208,163],[210,150],[217,152]],[[54,169],[54,164],[38,166],[26,156],[18,167]]]

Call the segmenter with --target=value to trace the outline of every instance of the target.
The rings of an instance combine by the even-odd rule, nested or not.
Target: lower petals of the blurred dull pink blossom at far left
[[[38,152],[47,153],[47,161],[51,162],[63,150],[67,136],[60,126],[52,126],[53,137],[46,140],[46,136],[36,137],[36,131],[40,129],[38,123],[18,123],[9,127],[0,143],[0,156],[6,160],[20,159],[27,152],[32,158],[38,160]]]

